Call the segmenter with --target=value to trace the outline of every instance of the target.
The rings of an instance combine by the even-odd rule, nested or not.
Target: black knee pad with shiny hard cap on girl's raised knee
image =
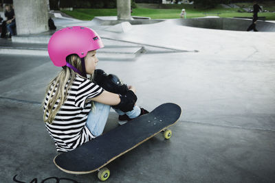
[[[123,84],[118,76],[113,74],[107,75],[107,73],[101,69],[94,71],[94,82],[111,93],[125,95],[129,90],[128,86]]]

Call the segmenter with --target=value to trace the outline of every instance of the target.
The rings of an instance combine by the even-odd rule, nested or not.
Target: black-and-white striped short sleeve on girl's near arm
[[[90,82],[89,80],[85,80],[82,82],[76,93],[75,103],[78,108],[85,108],[86,99],[91,99],[97,97],[103,92],[103,88]]]

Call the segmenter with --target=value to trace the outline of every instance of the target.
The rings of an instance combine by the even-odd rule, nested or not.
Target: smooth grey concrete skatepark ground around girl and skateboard
[[[58,27],[82,23],[119,56],[126,46],[142,47],[130,51],[129,60],[104,48],[98,64],[137,88],[139,106],[153,110],[173,102],[183,109],[169,141],[157,135],[114,160],[107,182],[274,182],[274,32],[201,29],[173,20],[111,32],[111,25],[92,21],[56,21]],[[57,152],[41,103],[60,69],[43,54],[5,52],[17,47],[10,40],[0,44],[0,182],[99,182],[96,173],[72,175],[52,162]],[[111,111],[106,131],[117,118]]]

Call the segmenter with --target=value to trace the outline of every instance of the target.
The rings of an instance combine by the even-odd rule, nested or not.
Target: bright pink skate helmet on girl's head
[[[55,32],[47,45],[47,51],[55,66],[67,65],[66,57],[77,54],[84,58],[88,51],[104,47],[100,36],[88,27],[66,27]]]

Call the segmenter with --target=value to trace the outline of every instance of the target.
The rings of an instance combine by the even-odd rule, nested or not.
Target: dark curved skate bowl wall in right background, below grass
[[[196,18],[196,19],[175,19],[177,25],[189,27],[199,27],[206,29],[223,29],[234,31],[246,31],[251,25],[252,20],[249,19],[233,19],[233,18]],[[275,32],[275,23],[257,21],[256,29],[259,32]]]

